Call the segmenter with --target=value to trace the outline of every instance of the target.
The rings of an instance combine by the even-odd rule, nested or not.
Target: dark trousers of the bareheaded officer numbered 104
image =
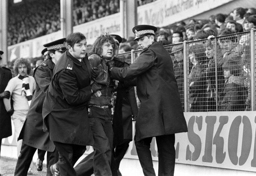
[[[85,152],[86,146],[56,141],[53,141],[53,143],[59,151],[59,161],[57,162],[57,167],[60,171],[60,175],[76,176],[73,166]]]

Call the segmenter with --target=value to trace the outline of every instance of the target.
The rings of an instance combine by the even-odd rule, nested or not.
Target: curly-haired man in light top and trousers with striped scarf
[[[24,58],[16,59],[13,70],[17,76],[10,79],[5,91],[9,91],[11,99],[4,99],[5,108],[12,114],[16,137],[19,136],[25,122],[27,112],[32,100],[32,94],[36,88],[35,79],[28,76],[31,71],[30,61]],[[11,101],[13,101],[13,107]],[[17,141],[17,154],[19,156],[22,140]]]

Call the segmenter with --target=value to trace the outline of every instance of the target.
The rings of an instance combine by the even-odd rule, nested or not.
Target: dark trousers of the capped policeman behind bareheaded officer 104
[[[28,169],[30,167],[31,161],[33,159],[33,156],[36,152],[37,148],[31,147],[25,143],[22,142],[20,155],[17,160],[17,164],[15,167],[15,176],[24,176],[27,175]],[[47,176],[52,176],[50,171],[50,166],[54,163],[56,163],[58,160],[54,157],[55,152],[47,152]]]

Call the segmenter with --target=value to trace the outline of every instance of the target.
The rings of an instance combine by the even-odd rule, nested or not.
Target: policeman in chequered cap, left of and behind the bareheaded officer
[[[58,161],[55,159],[56,154],[55,146],[49,138],[49,133],[43,132],[43,118],[42,108],[45,98],[45,93],[48,90],[49,84],[53,76],[53,68],[63,52],[66,51],[64,46],[65,38],[59,39],[48,44],[44,44],[47,47],[47,58],[34,70],[34,78],[36,80],[36,90],[33,95],[31,106],[29,108],[25,123],[20,132],[19,139],[23,139],[21,152],[17,160],[14,175],[26,175],[29,164],[33,159],[33,155],[38,149],[39,151],[47,152],[47,165],[54,164]],[[39,152],[40,153],[40,152]],[[44,153],[42,154],[44,158]],[[50,159],[51,158],[51,159]],[[38,170],[42,170],[42,161],[40,159],[38,163]],[[47,175],[51,175],[49,167],[47,167]]]

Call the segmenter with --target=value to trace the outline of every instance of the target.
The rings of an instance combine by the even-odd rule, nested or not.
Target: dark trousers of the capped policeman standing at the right
[[[155,137],[158,149],[158,176],[173,176],[175,166],[175,134]],[[156,175],[150,151],[151,140],[152,137],[147,137],[136,141],[136,135],[134,137],[137,154],[145,176]]]

